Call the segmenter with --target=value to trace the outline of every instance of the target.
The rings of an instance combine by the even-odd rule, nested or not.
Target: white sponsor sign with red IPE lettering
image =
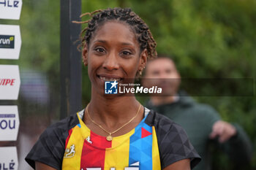
[[[17,100],[20,72],[16,65],[0,65],[0,100]]]

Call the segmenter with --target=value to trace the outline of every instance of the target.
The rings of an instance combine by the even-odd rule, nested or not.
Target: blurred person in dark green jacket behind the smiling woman
[[[211,151],[217,148],[227,153],[236,169],[249,169],[252,144],[243,128],[221,120],[212,107],[180,92],[181,76],[172,59],[162,55],[148,61],[143,78],[144,86],[157,85],[163,92],[161,96],[150,96],[146,107],[181,125],[202,157],[195,170],[211,169]]]

